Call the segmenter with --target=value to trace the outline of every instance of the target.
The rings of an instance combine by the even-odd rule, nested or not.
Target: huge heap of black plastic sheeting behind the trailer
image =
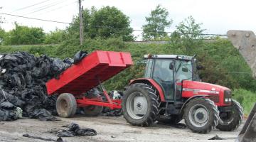
[[[78,52],[78,62],[87,55]],[[13,121],[26,116],[41,120],[57,120],[55,95],[48,96],[46,82],[58,76],[74,62],[47,55],[36,57],[26,52],[0,56],[0,121]]]

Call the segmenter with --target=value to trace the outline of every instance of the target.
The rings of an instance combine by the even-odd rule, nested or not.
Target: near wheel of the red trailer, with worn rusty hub
[[[77,109],[77,103],[73,94],[60,94],[56,102],[56,109],[60,117],[74,116]]]

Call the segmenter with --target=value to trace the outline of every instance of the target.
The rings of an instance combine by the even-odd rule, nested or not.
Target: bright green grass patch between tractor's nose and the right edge
[[[234,99],[242,105],[245,115],[249,115],[256,102],[256,93],[250,92],[246,89],[234,89],[233,94]]]

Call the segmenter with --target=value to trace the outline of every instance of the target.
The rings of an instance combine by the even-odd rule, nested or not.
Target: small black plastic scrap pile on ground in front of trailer
[[[81,129],[78,124],[71,123],[68,126],[68,129],[51,129],[50,133],[55,133],[59,137],[73,137],[73,136],[95,136],[97,132],[94,129]]]

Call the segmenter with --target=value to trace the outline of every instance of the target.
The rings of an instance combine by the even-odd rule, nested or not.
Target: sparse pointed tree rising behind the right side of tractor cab
[[[176,26],[176,31],[171,34],[172,42],[175,40],[182,43],[189,53],[191,48],[196,48],[203,41],[202,33],[206,30],[201,28],[202,25],[203,23],[196,23],[192,16],[188,16]]]

